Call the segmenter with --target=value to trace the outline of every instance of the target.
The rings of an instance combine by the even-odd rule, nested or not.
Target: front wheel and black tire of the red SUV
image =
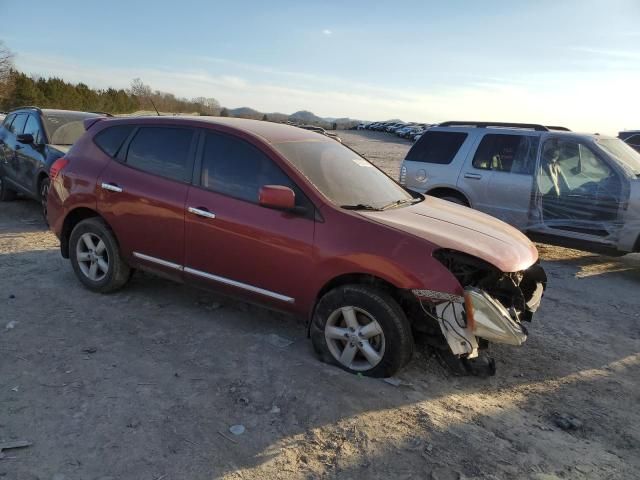
[[[414,346],[411,326],[398,303],[365,285],[338,287],[320,299],[311,341],[321,361],[370,377],[394,375],[409,362]]]

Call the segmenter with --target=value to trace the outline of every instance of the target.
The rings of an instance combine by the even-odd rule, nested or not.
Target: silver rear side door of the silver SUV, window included
[[[532,205],[539,137],[527,132],[484,133],[458,177],[472,207],[524,230]]]

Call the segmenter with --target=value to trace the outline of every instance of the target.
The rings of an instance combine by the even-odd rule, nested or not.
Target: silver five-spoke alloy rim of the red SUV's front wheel
[[[324,336],[333,357],[351,370],[370,370],[384,356],[382,327],[361,308],[345,306],[335,310],[327,319]]]

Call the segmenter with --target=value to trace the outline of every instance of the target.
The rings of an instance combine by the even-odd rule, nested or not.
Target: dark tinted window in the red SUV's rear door
[[[126,162],[145,172],[188,181],[193,133],[188,128],[143,127],[129,144]]]

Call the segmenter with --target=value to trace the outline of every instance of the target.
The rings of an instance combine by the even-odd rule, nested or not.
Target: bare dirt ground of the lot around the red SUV
[[[409,147],[341,135],[393,175]],[[141,273],[90,293],[35,203],[0,204],[0,444],[32,442],[0,479],[640,478],[640,257],[539,249],[543,306],[495,377],[418,352],[393,386],[280,314]]]

